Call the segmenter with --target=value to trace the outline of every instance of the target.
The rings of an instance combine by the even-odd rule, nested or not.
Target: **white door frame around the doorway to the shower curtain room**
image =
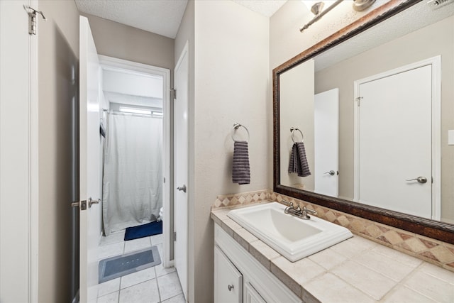
[[[165,268],[173,266],[173,260],[171,260],[170,252],[172,251],[171,246],[171,235],[173,233],[173,226],[170,224],[170,185],[172,183],[171,174],[171,158],[170,158],[170,142],[173,140],[170,135],[170,119],[171,119],[171,107],[170,107],[170,70],[167,68],[156,67],[153,65],[146,65],[143,63],[118,59],[115,57],[109,57],[104,55],[98,55],[99,64],[101,68],[111,68],[118,70],[132,70],[134,72],[141,72],[147,75],[159,75],[162,77],[162,177],[164,178],[162,183],[162,206],[164,208],[164,220],[162,221],[162,234],[163,240],[163,265]]]

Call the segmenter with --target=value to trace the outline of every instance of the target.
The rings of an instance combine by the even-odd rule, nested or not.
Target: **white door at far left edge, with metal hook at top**
[[[0,302],[38,302],[38,35],[25,5],[38,9],[0,1]]]

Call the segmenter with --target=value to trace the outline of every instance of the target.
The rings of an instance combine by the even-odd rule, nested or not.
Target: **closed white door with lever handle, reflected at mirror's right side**
[[[362,83],[358,97],[355,199],[430,219],[431,65]]]

